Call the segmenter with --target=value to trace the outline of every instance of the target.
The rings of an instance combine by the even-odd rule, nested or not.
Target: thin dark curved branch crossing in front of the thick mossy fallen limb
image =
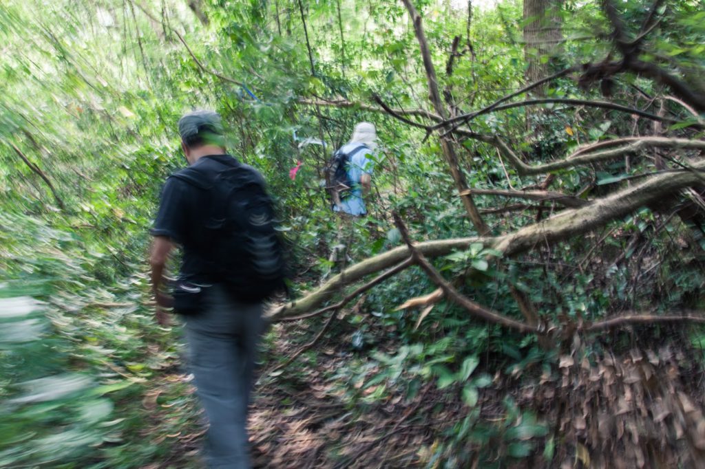
[[[427,273],[431,281],[434,282],[434,284],[438,285],[441,290],[443,290],[443,294],[445,294],[450,301],[453,301],[453,303],[458,304],[458,306],[464,308],[468,313],[470,313],[470,315],[473,315],[476,318],[484,319],[489,323],[503,325],[505,327],[509,327],[510,329],[514,329],[518,332],[523,333],[539,332],[539,328],[537,326],[527,325],[512,318],[508,318],[507,316],[497,313],[496,311],[491,311],[487,308],[484,308],[484,306],[475,303],[466,296],[460,294],[458,290],[453,288],[453,285],[443,279],[441,274],[439,274],[438,271],[434,269],[433,265],[431,265],[429,261],[427,261],[426,257],[421,253],[421,251],[416,249],[416,247],[411,241],[411,238],[409,237],[409,232],[406,229],[406,225],[404,225],[399,214],[395,212],[392,214],[392,216],[394,217],[394,223],[401,232],[401,236],[404,239],[404,242],[411,251],[412,258],[424,270],[424,272]]]

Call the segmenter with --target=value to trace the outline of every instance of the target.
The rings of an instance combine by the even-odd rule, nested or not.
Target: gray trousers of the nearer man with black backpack
[[[205,308],[184,316],[190,368],[210,427],[209,468],[251,467],[247,406],[262,332],[262,304],[242,304],[221,284],[210,287]]]

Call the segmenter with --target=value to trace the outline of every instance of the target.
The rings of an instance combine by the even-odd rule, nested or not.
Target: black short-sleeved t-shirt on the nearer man
[[[234,161],[230,155],[203,156],[190,168],[205,170],[214,165],[220,167],[221,163],[230,165]],[[179,173],[186,170],[188,168]],[[183,247],[180,277],[207,281],[208,263],[201,253],[207,249],[210,236],[205,227],[210,216],[209,191],[176,175],[168,177],[161,189],[159,211],[149,232],[153,236],[166,236]]]

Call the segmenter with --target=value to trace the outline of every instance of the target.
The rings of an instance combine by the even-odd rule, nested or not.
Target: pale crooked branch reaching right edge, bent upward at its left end
[[[509,160],[509,162],[517,170],[517,173],[519,173],[520,175],[536,175],[564,168],[573,168],[578,165],[598,163],[600,161],[608,161],[613,158],[623,156],[627,153],[633,153],[635,151],[638,151],[639,149],[643,149],[644,147],[648,146],[658,146],[660,148],[675,149],[705,149],[704,140],[667,139],[663,137],[644,137],[620,140],[622,142],[631,143],[625,146],[618,147],[617,149],[608,149],[589,154],[584,154],[578,151],[575,154],[571,155],[569,158],[536,166],[527,165],[526,163],[521,161],[520,158],[499,137],[494,138],[494,144],[497,146],[498,149],[500,149],[502,154]],[[594,150],[595,148],[597,148],[597,146],[590,150]]]

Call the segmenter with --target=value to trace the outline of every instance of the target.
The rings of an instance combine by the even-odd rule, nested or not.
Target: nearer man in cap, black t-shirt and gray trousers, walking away
[[[150,263],[157,320],[182,313],[190,369],[209,422],[209,468],[250,468],[247,406],[262,332],[262,300],[281,287],[283,261],[271,199],[254,168],[226,154],[221,118],[195,111],[178,122],[188,168],[161,192]],[[173,296],[164,266],[183,258]]]

